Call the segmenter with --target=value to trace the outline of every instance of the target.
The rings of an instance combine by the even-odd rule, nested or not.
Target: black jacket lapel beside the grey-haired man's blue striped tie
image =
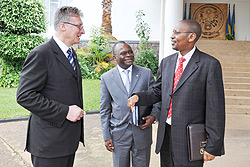
[[[74,77],[77,78],[77,75],[74,71],[74,69],[72,68],[69,60],[66,58],[66,56],[64,55],[64,53],[62,52],[62,50],[60,49],[60,47],[56,44],[56,42],[51,39],[49,41],[53,47],[53,52],[55,53],[55,56],[57,58],[57,60],[65,67],[67,68],[73,75]],[[74,55],[75,57],[75,55]]]

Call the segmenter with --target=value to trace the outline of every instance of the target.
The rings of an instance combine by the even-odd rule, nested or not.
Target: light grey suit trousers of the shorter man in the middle
[[[129,124],[122,137],[117,141],[113,141],[114,167],[130,167],[130,157],[132,157],[133,167],[149,166],[151,146],[144,149],[137,149],[133,138],[132,125]]]

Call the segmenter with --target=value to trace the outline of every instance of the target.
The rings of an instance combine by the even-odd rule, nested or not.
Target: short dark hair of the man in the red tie
[[[188,31],[196,34],[195,42],[197,42],[202,33],[201,25],[196,20],[182,20],[180,22],[186,23],[188,25]]]

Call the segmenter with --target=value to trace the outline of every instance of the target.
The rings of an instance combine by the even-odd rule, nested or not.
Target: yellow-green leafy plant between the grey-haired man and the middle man
[[[112,48],[107,44],[103,28],[93,26],[88,47],[77,50],[83,78],[100,79],[101,74],[115,66],[112,63],[113,55],[109,54]]]

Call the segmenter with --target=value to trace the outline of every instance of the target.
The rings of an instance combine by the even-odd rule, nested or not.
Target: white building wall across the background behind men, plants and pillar
[[[82,40],[88,40],[91,25],[100,27],[102,23],[102,0],[72,0],[69,5],[83,11],[85,34]],[[208,3],[206,0],[184,0],[184,3]],[[236,5],[236,40],[250,41],[250,0],[210,0],[209,3],[230,3]],[[135,12],[143,10],[145,22],[151,27],[150,41],[160,41],[161,0],[113,0],[112,26],[113,36],[118,40],[139,40],[135,33]],[[168,10],[168,9],[165,9]],[[189,8],[187,8],[189,10]],[[231,11],[232,14],[232,11]],[[48,27],[47,37],[53,35],[53,27]]]

